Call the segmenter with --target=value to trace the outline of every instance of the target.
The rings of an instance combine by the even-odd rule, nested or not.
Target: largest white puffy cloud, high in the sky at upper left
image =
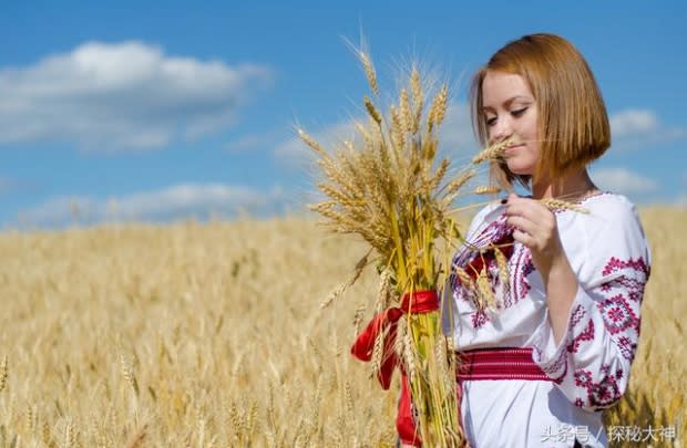
[[[267,67],[171,56],[142,42],[84,43],[0,70],[0,144],[146,149],[232,125]]]

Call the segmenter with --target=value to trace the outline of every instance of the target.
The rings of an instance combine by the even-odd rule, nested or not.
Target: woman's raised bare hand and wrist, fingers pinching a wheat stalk
[[[514,194],[509,195],[505,216],[515,228],[513,239],[530,249],[534,267],[546,280],[552,267],[565,259],[556,217],[539,200]]]

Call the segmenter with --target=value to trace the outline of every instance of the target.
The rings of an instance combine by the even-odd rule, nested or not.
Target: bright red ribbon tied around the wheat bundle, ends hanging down
[[[391,385],[391,376],[397,365],[401,367],[401,397],[399,399],[398,411],[396,416],[396,428],[403,444],[420,447],[422,441],[417,434],[414,418],[412,415],[412,399],[410,395],[410,385],[402,366],[398,362],[396,354],[396,331],[398,321],[403,314],[431,313],[439,310],[439,295],[437,291],[417,291],[412,294],[403,294],[400,308],[389,308],[377,314],[368,326],[358,335],[350,352],[360,361],[368,362],[372,358],[375,350],[375,341],[380,332],[389,329],[383,341],[382,362],[377,373],[377,378],[381,387],[386,390]]]

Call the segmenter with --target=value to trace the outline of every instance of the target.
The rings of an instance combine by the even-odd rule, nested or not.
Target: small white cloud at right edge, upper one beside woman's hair
[[[687,138],[686,128],[665,126],[656,113],[648,110],[621,111],[609,119],[613,146],[618,148],[642,148]]]

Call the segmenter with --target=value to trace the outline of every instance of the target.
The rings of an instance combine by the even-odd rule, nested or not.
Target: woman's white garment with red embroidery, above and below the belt
[[[472,447],[572,447],[575,437],[582,446],[607,444],[601,410],[627,386],[650,256],[636,209],[625,197],[605,192],[581,206],[588,213],[555,212],[580,284],[557,344],[530,250],[512,246],[507,284],[493,257],[475,254],[475,247],[507,241],[512,229],[505,225],[505,206],[490,205],[478,213],[466,237],[471,249],[465,244],[453,259],[454,267],[485,267],[496,298],[494,308],[480,311],[458,275],[450,277],[443,325],[459,351],[531,347],[533,361],[551,379],[464,382],[461,415]]]

